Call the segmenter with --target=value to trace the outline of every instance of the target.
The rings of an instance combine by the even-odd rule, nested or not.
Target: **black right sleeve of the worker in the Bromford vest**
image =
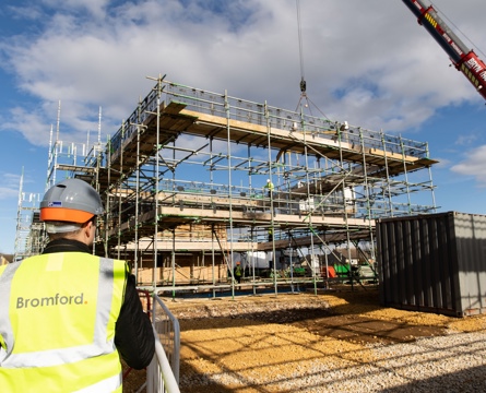
[[[135,276],[127,278],[125,301],[115,327],[115,345],[128,366],[141,370],[149,366],[155,352],[152,323],[142,310]]]

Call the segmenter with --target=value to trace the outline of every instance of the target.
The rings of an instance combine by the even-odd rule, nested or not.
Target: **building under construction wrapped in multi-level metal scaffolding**
[[[141,285],[234,287],[237,263],[253,288],[316,284],[337,247],[372,262],[376,218],[436,211],[427,143],[154,81],[107,142],[51,131],[47,172],[48,187],[99,191],[95,251],[132,263]],[[38,200],[21,189],[17,260],[44,245]]]

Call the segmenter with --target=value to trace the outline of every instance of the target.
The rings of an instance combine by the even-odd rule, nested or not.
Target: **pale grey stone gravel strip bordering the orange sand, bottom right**
[[[303,360],[292,373],[251,382],[260,384],[258,392],[485,392],[485,338],[477,333],[419,338],[372,348],[366,357],[374,360]],[[227,373],[217,381],[237,385]]]

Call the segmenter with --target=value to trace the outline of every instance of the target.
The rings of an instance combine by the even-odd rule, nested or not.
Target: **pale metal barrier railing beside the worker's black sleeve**
[[[152,323],[155,334],[155,356],[146,369],[146,392],[179,393],[179,321],[155,294]]]

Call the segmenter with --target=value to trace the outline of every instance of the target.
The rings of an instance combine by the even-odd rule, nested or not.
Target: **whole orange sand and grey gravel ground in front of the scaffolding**
[[[374,289],[167,306],[181,392],[486,392],[484,315],[382,308]]]

